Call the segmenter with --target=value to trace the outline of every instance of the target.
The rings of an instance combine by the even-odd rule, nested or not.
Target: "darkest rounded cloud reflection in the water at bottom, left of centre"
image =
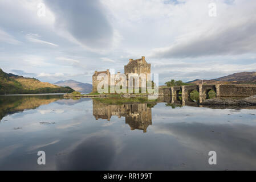
[[[107,170],[116,154],[115,142],[108,135],[88,137],[67,155],[56,159],[58,170]]]

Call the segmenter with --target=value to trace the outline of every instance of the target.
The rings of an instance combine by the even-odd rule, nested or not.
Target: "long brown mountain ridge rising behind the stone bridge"
[[[201,84],[202,80],[196,79],[193,81],[189,81],[187,83],[190,84]],[[204,80],[205,84],[221,84],[221,83],[229,83],[229,84],[256,84],[256,72],[240,72],[233,73],[231,75],[227,75],[220,78],[214,78],[212,80]]]

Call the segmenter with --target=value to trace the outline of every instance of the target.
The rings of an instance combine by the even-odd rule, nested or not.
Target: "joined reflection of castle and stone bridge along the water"
[[[203,98],[200,97],[200,100],[203,100]],[[183,106],[208,107],[210,109],[256,109],[256,106],[201,106],[200,100],[199,98],[198,100],[192,100],[189,96],[182,97],[181,100],[170,96],[160,96],[157,102],[164,102],[165,106],[172,107],[172,109]],[[148,126],[152,125],[152,108],[156,104],[110,105],[97,100],[92,101],[93,115],[96,120],[105,119],[110,121],[114,115],[118,118],[125,117],[125,123],[130,126],[131,130],[143,130],[144,133],[147,132]]]

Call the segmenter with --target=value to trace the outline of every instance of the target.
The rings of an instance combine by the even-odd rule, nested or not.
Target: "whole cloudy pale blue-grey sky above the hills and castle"
[[[247,0],[0,0],[0,68],[91,83],[95,70],[123,73],[145,56],[160,85],[256,71],[255,10]]]

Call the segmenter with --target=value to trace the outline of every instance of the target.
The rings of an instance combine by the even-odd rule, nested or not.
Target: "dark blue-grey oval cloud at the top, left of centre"
[[[66,31],[84,47],[91,49],[109,48],[113,40],[113,30],[100,1],[50,1],[46,6],[55,16],[55,28]]]

